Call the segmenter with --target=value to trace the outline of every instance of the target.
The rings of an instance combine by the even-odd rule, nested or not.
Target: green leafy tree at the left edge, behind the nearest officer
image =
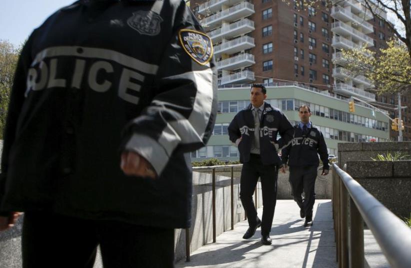
[[[10,90],[13,84],[20,47],[0,39],[0,139],[3,136]]]

